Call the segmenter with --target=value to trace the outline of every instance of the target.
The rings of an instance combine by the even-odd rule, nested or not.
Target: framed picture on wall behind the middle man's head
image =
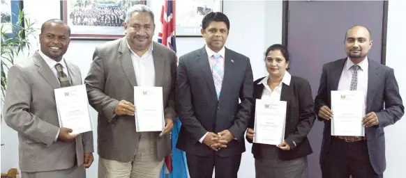
[[[202,36],[202,19],[211,12],[223,13],[223,1],[176,0],[176,36]]]

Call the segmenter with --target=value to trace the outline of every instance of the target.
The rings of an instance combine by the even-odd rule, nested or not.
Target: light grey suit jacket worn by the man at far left
[[[66,66],[73,86],[82,84],[79,67]],[[84,153],[93,152],[93,133],[82,133],[68,143],[54,142],[59,131],[54,89],[57,77],[36,52],[23,65],[8,70],[4,121],[18,132],[20,169],[43,172],[82,165]]]

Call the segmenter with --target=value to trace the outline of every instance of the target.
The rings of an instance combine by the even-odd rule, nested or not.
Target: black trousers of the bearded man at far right
[[[366,140],[353,143],[331,136],[331,146],[322,164],[323,178],[382,178],[370,163]]]

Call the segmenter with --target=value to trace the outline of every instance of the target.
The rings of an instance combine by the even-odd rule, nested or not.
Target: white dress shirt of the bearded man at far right
[[[351,80],[352,80],[352,73],[354,73],[354,70],[352,70],[350,67],[352,67],[354,63],[347,58],[347,61],[345,61],[345,65],[343,68],[343,72],[341,72],[341,77],[340,81],[338,82],[338,90],[350,90],[351,89]],[[360,69],[358,70],[357,73],[357,82],[356,82],[356,90],[361,90],[364,92],[364,106],[366,106],[366,95],[368,92],[368,57],[366,57],[364,60],[361,61],[361,63],[358,63]],[[364,110],[366,107],[364,107]],[[364,111],[365,113],[365,111]]]

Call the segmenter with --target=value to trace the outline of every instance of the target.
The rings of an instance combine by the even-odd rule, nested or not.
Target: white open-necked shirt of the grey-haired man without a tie
[[[155,65],[153,64],[152,42],[148,51],[146,51],[141,57],[135,54],[128,42],[127,45],[128,49],[131,51],[131,60],[133,61],[137,86],[155,86]]]

